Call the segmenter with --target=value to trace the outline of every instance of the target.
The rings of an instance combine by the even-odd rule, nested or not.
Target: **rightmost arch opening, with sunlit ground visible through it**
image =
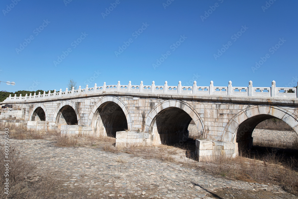
[[[287,123],[272,115],[256,115],[243,121],[236,134],[238,153],[247,158],[295,159],[298,167],[298,136]]]

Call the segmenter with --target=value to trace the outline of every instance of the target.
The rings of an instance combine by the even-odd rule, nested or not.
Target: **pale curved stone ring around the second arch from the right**
[[[180,100],[166,100],[156,105],[149,112],[148,116],[145,119],[144,132],[149,132],[149,133],[151,132],[154,134],[154,135],[151,135],[153,144],[160,144],[160,141],[158,140],[158,136],[156,133],[156,129],[153,129],[156,126],[156,117],[159,115],[159,113],[161,113],[161,111],[163,110],[167,111],[170,108],[176,109],[176,110],[181,109],[183,112],[188,114],[190,118],[195,122],[198,132],[200,134],[203,134],[204,137],[206,137],[203,121],[201,120],[200,116],[198,115],[198,113],[195,111],[193,107],[191,107],[186,102],[183,102]],[[157,143],[155,143],[156,140],[157,140]]]

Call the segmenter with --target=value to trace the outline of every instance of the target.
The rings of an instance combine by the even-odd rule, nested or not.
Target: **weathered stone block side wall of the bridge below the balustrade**
[[[121,117],[126,118],[127,130],[150,133],[151,140],[156,144],[160,144],[162,138],[183,139],[183,135],[187,134],[185,127],[191,120],[206,139],[244,143],[243,147],[249,147],[252,142],[250,136],[254,127],[268,118],[279,118],[298,133],[298,99],[294,98],[106,92],[10,104],[14,109],[21,109],[22,119],[29,121],[34,111],[41,107],[45,112],[45,121],[56,124],[61,118],[61,110],[68,107],[73,110],[77,125],[92,128],[94,135],[100,134],[96,132],[100,125],[111,125],[103,117],[112,115],[116,111],[112,107],[118,107],[123,112]],[[165,121],[170,115],[174,115],[175,122],[172,119]],[[159,117],[164,117],[164,122],[159,121]],[[169,130],[171,122],[176,125],[173,128],[175,132]],[[164,135],[159,136],[158,133]]]

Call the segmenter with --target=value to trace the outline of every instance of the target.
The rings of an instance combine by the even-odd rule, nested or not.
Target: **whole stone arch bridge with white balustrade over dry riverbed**
[[[196,140],[199,160],[218,153],[237,155],[252,146],[252,131],[269,118],[285,121],[298,134],[297,88],[104,85],[56,90],[29,96],[10,96],[1,110],[2,121],[28,128],[58,128],[67,134],[116,136],[116,144],[156,145],[188,138],[191,121],[204,137]],[[10,120],[7,120],[10,119]],[[18,121],[18,119],[21,119]],[[117,133],[116,133],[117,132]]]

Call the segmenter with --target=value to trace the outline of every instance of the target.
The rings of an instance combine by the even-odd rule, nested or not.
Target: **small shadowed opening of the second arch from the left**
[[[56,124],[77,125],[77,123],[77,114],[71,106],[65,105],[59,110]]]

